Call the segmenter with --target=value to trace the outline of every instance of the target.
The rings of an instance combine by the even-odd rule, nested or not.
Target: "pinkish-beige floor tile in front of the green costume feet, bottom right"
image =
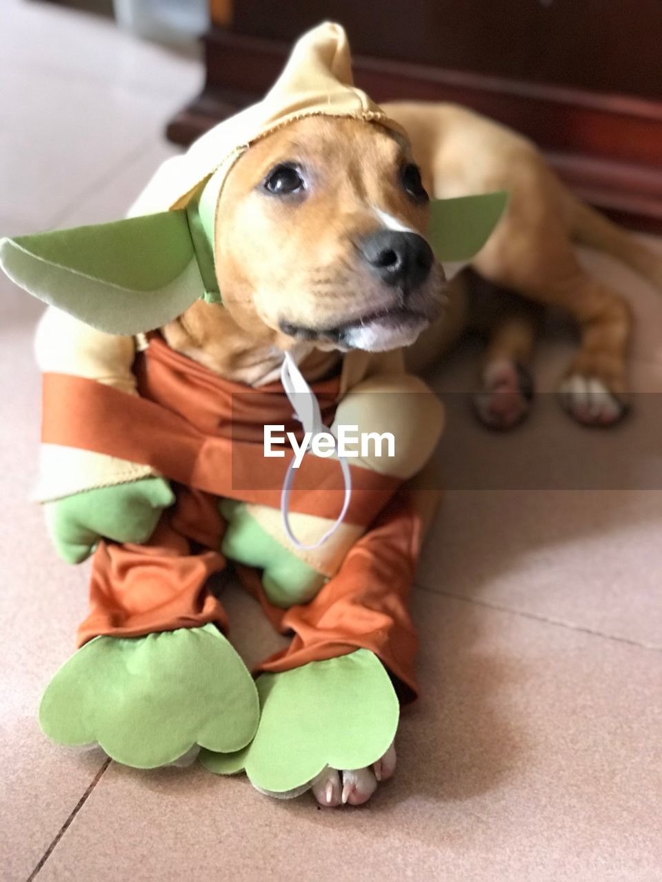
[[[40,882],[658,878],[660,655],[434,594],[415,608],[423,698],[372,804],[110,766]]]

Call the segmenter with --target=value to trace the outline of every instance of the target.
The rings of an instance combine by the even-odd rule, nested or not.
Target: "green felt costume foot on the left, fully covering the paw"
[[[98,743],[136,768],[167,765],[195,744],[238,751],[259,719],[252,676],[212,624],[97,637],[56,673],[40,708],[56,743]]]

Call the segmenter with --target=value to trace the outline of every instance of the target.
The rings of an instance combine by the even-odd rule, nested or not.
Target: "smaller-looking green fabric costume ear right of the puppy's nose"
[[[430,244],[441,262],[470,260],[487,242],[508,205],[508,193],[430,202]]]

